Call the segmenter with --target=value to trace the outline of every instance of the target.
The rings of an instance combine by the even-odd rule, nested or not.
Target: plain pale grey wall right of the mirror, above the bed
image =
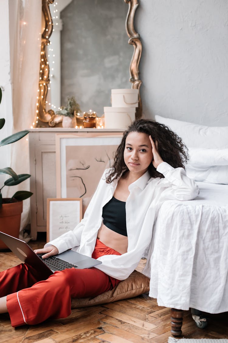
[[[143,113],[228,126],[228,1],[140,0]]]

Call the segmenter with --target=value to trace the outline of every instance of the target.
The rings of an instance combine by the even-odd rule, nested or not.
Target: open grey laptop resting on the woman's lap
[[[39,270],[49,277],[57,270],[66,268],[90,268],[102,263],[92,257],[88,257],[73,250],[64,251],[58,255],[42,259],[44,254],[36,254],[23,240],[12,237],[0,231],[0,239],[22,261]]]

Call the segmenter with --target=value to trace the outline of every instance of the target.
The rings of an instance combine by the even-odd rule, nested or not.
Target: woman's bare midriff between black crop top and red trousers
[[[103,223],[98,230],[97,239],[104,243],[107,247],[124,254],[128,250],[128,237],[112,231]]]

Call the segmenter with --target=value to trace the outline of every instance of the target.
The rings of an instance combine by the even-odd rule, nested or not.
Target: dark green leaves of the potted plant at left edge
[[[0,88],[0,103],[2,100],[2,91]],[[5,124],[5,119],[4,118],[0,118],[0,129],[3,128]],[[9,137],[6,137],[5,139],[3,139],[0,142],[0,146],[6,145],[6,144],[10,144],[10,143],[14,143],[16,141],[18,141],[19,139],[23,138],[26,134],[28,134],[29,131],[28,130],[24,130],[24,131],[20,131],[17,133],[12,134]],[[2,206],[3,203],[11,203],[11,202],[15,202],[15,199],[17,201],[21,201],[21,200],[25,200],[29,197],[31,197],[31,195],[33,194],[32,192],[28,192],[28,191],[17,191],[16,193],[13,194],[13,196],[11,198],[2,198],[2,193],[1,190],[3,187],[5,186],[15,186],[20,184],[21,182],[23,182],[24,180],[28,179],[31,175],[29,174],[19,174],[17,175],[15,173],[15,171],[10,168],[10,167],[6,167],[3,169],[0,169],[0,174],[8,174],[11,177],[9,179],[7,179],[4,182],[4,185],[0,188],[0,207]]]

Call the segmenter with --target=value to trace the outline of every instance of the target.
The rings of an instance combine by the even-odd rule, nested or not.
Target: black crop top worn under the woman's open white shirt
[[[124,201],[112,197],[103,207],[102,217],[105,226],[127,237],[125,204]]]

